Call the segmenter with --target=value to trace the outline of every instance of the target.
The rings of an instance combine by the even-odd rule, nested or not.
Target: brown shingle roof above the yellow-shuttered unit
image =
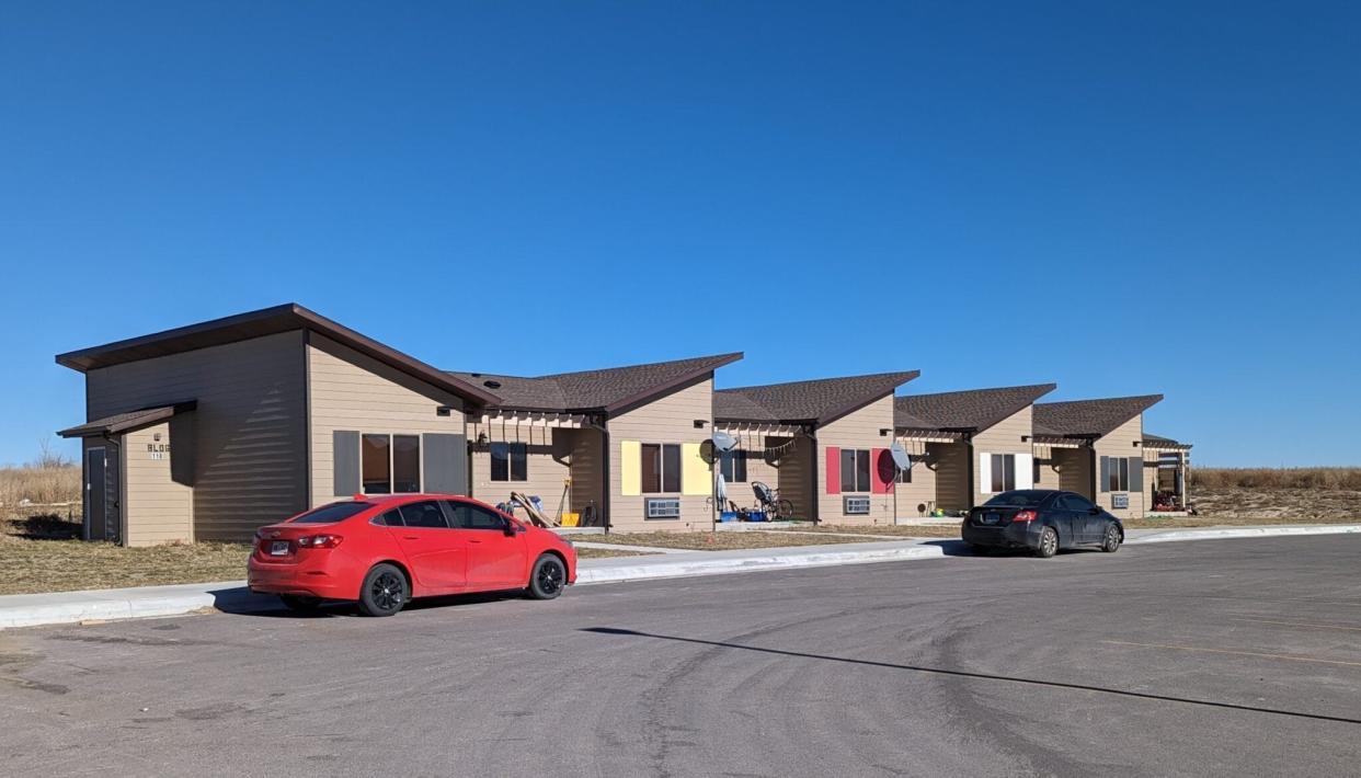
[[[489,373],[450,373],[497,394],[494,407],[517,411],[607,411],[656,397],[742,359],[742,352],[693,359],[558,373],[534,378]]]

